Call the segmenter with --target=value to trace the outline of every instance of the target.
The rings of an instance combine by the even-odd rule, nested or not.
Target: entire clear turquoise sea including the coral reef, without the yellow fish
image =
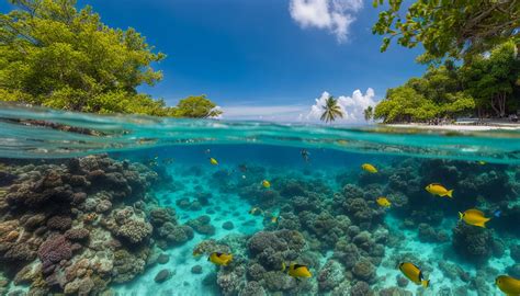
[[[515,130],[3,105],[0,295],[502,295],[495,278],[520,277],[519,153]],[[486,228],[460,220],[472,208]]]

